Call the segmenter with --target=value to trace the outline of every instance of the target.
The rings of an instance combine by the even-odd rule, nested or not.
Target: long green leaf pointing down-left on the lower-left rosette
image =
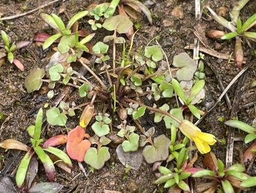
[[[20,162],[20,166],[18,166],[18,170],[16,173],[16,184],[18,188],[22,188],[24,186],[24,181],[26,178],[26,173],[28,171],[28,165],[30,164],[30,160],[34,154],[34,150],[31,149],[28,151],[25,156],[22,158]]]

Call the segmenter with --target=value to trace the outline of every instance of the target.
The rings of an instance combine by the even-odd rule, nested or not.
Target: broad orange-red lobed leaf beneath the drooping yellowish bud
[[[78,162],[83,162],[85,152],[91,147],[89,140],[83,140],[85,136],[85,130],[81,126],[77,126],[74,130],[68,133],[67,142],[67,153],[70,158],[77,160]]]

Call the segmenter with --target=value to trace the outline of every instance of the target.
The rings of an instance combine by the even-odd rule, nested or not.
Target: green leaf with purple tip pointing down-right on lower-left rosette
[[[37,156],[43,163],[43,167],[45,168],[45,173],[46,173],[49,181],[53,182],[54,175],[55,175],[55,168],[54,168],[53,161],[44,152],[44,150],[41,147],[37,146],[37,147],[34,147],[34,149],[35,149],[35,152],[37,153]]]

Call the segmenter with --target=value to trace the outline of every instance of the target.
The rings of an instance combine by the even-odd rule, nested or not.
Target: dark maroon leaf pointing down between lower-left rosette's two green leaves
[[[25,181],[24,181],[24,188],[23,188],[24,191],[30,189],[33,179],[35,179],[35,176],[37,175],[37,171],[38,171],[37,155],[33,154],[30,160],[30,164],[28,165],[28,170],[26,173]]]

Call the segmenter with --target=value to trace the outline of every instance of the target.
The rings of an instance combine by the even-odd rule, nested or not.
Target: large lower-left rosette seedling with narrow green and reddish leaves
[[[37,156],[43,163],[43,167],[45,167],[45,172],[50,182],[53,182],[55,169],[53,161],[46,152],[50,152],[51,154],[58,156],[58,158],[60,158],[60,160],[62,160],[64,163],[68,164],[70,168],[72,167],[71,160],[66,153],[64,153],[62,150],[42,143],[43,139],[40,138],[42,120],[43,109],[40,109],[35,120],[35,126],[30,126],[28,128],[28,133],[30,134],[30,137],[32,137],[30,138],[32,142],[32,148],[27,147],[23,143],[20,143],[14,139],[7,139],[0,144],[0,147],[5,149],[20,149],[28,151],[24,158],[22,158],[16,173],[16,184],[21,190],[25,187],[25,184],[27,184],[28,181],[30,181],[30,185],[26,185],[26,189],[30,188],[28,186],[31,186],[33,179],[31,180],[28,174],[32,172],[36,175],[38,170],[38,164],[36,160]],[[56,141],[54,141],[54,143],[56,143]],[[34,178],[35,175],[33,175],[32,178]]]

